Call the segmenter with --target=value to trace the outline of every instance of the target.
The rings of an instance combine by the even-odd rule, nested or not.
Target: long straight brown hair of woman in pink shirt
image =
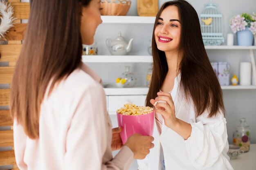
[[[13,75],[10,110],[31,139],[39,137],[40,104],[81,65],[81,7],[91,0],[34,0]]]

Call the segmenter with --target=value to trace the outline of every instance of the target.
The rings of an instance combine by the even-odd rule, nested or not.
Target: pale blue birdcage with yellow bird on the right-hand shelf
[[[202,38],[204,45],[220,45],[224,42],[222,14],[218,10],[218,5],[210,0],[204,4],[204,10],[200,15]]]

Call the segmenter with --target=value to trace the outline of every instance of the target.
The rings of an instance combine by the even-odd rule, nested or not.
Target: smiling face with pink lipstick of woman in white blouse
[[[181,24],[176,6],[168,6],[162,11],[154,33],[157,49],[164,52],[177,52],[180,44]]]

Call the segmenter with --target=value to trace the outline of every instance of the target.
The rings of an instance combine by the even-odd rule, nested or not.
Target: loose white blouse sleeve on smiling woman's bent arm
[[[190,113],[195,115],[195,112]],[[186,150],[193,166],[198,169],[209,168],[218,160],[227,144],[226,119],[222,113],[208,117],[203,113],[191,123],[191,136],[185,140]]]

